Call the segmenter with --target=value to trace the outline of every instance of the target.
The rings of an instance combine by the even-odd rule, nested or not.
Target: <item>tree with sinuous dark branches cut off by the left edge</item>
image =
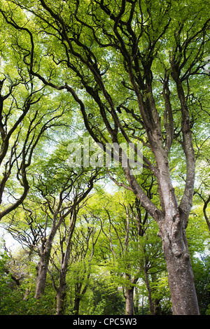
[[[1,29],[6,28],[1,22]],[[10,29],[8,29],[10,33]],[[22,204],[29,193],[29,169],[48,130],[65,125],[69,104],[31,76],[18,56],[18,34],[1,49],[0,65],[0,219]],[[3,43],[5,40],[1,40]],[[21,51],[21,50],[20,50]],[[50,104],[54,98],[53,106]]]

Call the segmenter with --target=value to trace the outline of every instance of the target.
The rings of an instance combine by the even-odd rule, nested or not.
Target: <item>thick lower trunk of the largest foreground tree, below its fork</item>
[[[164,223],[164,224],[163,224]],[[190,253],[180,216],[160,228],[174,315],[199,315]],[[165,227],[165,228],[164,228]],[[167,227],[167,229],[166,229]]]

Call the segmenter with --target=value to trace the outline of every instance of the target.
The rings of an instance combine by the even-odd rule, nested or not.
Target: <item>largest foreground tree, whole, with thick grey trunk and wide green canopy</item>
[[[144,145],[143,167],[158,183],[158,206],[130,163],[122,181],[115,181],[132,190],[158,223],[173,313],[179,315],[199,314],[186,228],[195,183],[190,101],[197,85],[209,86],[207,5],[200,0],[10,0],[1,6],[8,25],[29,41],[21,50],[31,75],[73,96],[94,141]],[[179,197],[174,158],[186,163]]]

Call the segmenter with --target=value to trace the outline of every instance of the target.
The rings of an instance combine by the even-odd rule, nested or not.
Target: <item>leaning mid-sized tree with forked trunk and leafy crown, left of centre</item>
[[[45,161],[34,166],[34,187],[30,200],[23,205],[24,213],[15,211],[8,221],[8,232],[39,255],[35,297],[40,298],[45,290],[52,243],[62,223],[70,218],[71,237],[76,221],[76,208],[83,202],[98,179],[98,170],[70,168],[67,151],[57,148]],[[35,170],[36,169],[36,170]],[[23,221],[20,218],[23,217]],[[71,239],[69,240],[71,242]],[[69,253],[66,254],[66,261]]]

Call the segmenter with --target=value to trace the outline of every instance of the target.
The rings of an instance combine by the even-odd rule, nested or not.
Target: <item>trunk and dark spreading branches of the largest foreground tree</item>
[[[124,92],[126,94],[128,90],[134,91],[134,94],[137,97],[137,101],[139,103],[139,113],[141,115],[141,120],[139,120],[136,114],[134,114],[134,111],[130,109],[130,106],[132,106],[132,104],[129,104],[129,108],[126,109],[126,111],[128,117],[130,116],[131,120],[129,120],[129,123],[126,124],[124,122],[125,125],[123,125],[123,116],[119,115],[119,113],[121,113],[120,104],[122,104],[122,99],[120,97],[123,97],[123,92],[119,90],[118,102],[116,94],[114,92],[110,92],[111,90],[109,88],[109,83],[108,89],[106,89],[106,79],[104,79],[102,72],[100,72],[98,69],[100,63],[97,62],[97,49],[95,50],[95,52],[94,50],[90,50],[87,47],[85,38],[84,42],[82,40],[78,42],[78,40],[75,39],[74,46],[74,43],[72,43],[73,39],[71,38],[71,33],[69,32],[71,30],[71,27],[68,26],[68,21],[64,20],[64,17],[61,17],[59,15],[59,10],[57,11],[57,13],[55,13],[53,8],[50,8],[50,6],[48,6],[43,0],[40,1],[41,6],[45,10],[45,15],[49,16],[44,16],[43,18],[42,15],[44,14],[42,13],[42,15],[40,15],[41,21],[44,22],[46,21],[46,19],[53,19],[56,23],[54,31],[52,30],[49,32],[45,30],[45,33],[49,34],[50,36],[53,36],[53,34],[57,36],[58,34],[59,39],[62,40],[62,42],[66,43],[66,53],[64,52],[64,55],[66,57],[64,57],[64,59],[66,58],[66,63],[69,62],[69,53],[75,59],[76,64],[72,64],[70,69],[73,73],[77,73],[78,76],[80,76],[80,82],[82,83],[83,87],[87,92],[87,97],[90,96],[92,98],[92,101],[94,101],[97,106],[99,106],[99,116],[102,116],[102,120],[104,120],[103,130],[95,130],[93,123],[88,118],[89,109],[85,108],[85,103],[83,103],[82,99],[78,97],[78,94],[76,90],[73,89],[73,87],[70,87],[70,85],[68,85],[67,83],[65,83],[64,85],[55,85],[50,79],[41,76],[41,74],[37,71],[34,72],[34,66],[32,65],[34,64],[33,62],[31,62],[30,65],[30,73],[33,73],[34,76],[40,78],[42,82],[45,83],[45,85],[49,85],[50,87],[53,87],[57,90],[66,90],[66,92],[71,93],[75,101],[78,102],[78,105],[80,106],[80,111],[83,114],[83,119],[87,131],[90,133],[90,136],[96,142],[105,141],[107,139],[107,137],[104,135],[104,130],[106,132],[109,132],[110,137],[113,141],[118,141],[118,133],[121,132],[123,137],[125,137],[125,140],[129,142],[130,136],[132,136],[130,134],[132,132],[132,126],[135,127],[135,125],[139,125],[139,123],[141,123],[142,121],[142,124],[139,125],[139,127],[140,129],[141,126],[144,127],[148,139],[146,144],[148,145],[148,149],[151,149],[151,151],[155,155],[156,160],[155,167],[153,167],[150,160],[144,157],[144,165],[151,169],[151,172],[153,172],[155,178],[157,178],[158,180],[158,188],[160,190],[160,204],[162,210],[160,211],[160,209],[156,207],[151,200],[149,200],[146,193],[144,193],[144,190],[137,183],[137,180],[132,174],[130,174],[130,170],[127,170],[127,172],[125,172],[125,176],[127,176],[128,182],[130,183],[130,187],[134,191],[134,194],[139,197],[142,207],[144,207],[144,209],[146,209],[146,211],[148,211],[148,213],[151,214],[151,216],[153,216],[155,221],[157,221],[159,224],[165,260],[167,262],[167,269],[169,272],[169,285],[172,293],[174,314],[197,314],[197,298],[195,295],[195,286],[193,283],[193,273],[190,264],[188,245],[186,239],[183,238],[183,235],[185,235],[187,221],[185,225],[183,225],[180,220],[180,228],[178,228],[178,226],[174,228],[174,221],[176,221],[175,217],[177,216],[178,209],[182,210],[183,212],[186,212],[186,215],[188,217],[190,207],[192,206],[195,181],[195,158],[190,132],[191,127],[190,115],[188,111],[188,100],[190,94],[192,93],[192,90],[190,90],[190,80],[192,79],[193,81],[193,76],[198,73],[198,69],[202,68],[202,66],[200,66],[200,58],[202,52],[204,52],[204,38],[202,36],[208,33],[209,18],[204,18],[205,24],[203,25],[203,28],[198,27],[197,31],[193,31],[193,25],[190,25],[190,21],[188,21],[188,16],[186,16],[186,22],[184,22],[186,24],[180,24],[180,18],[177,18],[175,22],[174,15],[170,16],[170,11],[172,11],[173,13],[175,10],[176,12],[177,8],[172,6],[172,1],[169,1],[170,6],[172,6],[170,7],[170,10],[168,7],[165,8],[165,10],[163,11],[159,11],[162,18],[162,24],[159,24],[153,28],[153,31],[157,29],[157,38],[155,38],[155,36],[151,38],[149,36],[150,29],[151,26],[153,26],[153,24],[157,22],[155,20],[155,15],[158,13],[158,11],[154,10],[156,8],[152,5],[149,11],[148,7],[145,6],[146,11],[144,11],[144,6],[141,6],[140,4],[141,1],[124,0],[121,1],[121,4],[119,1],[118,15],[113,15],[113,8],[111,7],[112,1],[108,1],[109,4],[106,5],[104,4],[104,1],[96,2],[98,3],[97,9],[102,10],[102,20],[104,20],[104,22],[109,22],[109,27],[107,29],[106,24],[104,22],[96,22],[96,20],[94,20],[94,13],[92,13],[92,22],[94,22],[94,27],[93,25],[91,26],[91,22],[90,25],[86,25],[85,23],[81,22],[78,19],[76,12],[73,18],[73,22],[75,22],[76,24],[78,24],[79,22],[81,27],[87,28],[87,36],[91,36],[91,38],[94,38],[98,45],[100,45],[101,41],[100,38],[97,37],[97,31],[100,31],[100,33],[103,34],[105,38],[112,40],[112,42],[108,44],[110,46],[109,49],[112,49],[114,51],[116,49],[118,50],[119,61],[123,62],[124,64],[123,72],[126,73],[126,76],[128,75],[129,79],[128,84],[125,83],[125,81],[123,83],[123,86],[125,86]],[[77,1],[77,3],[80,3],[80,1]],[[132,3],[132,6],[130,3]],[[152,3],[152,1],[148,1],[148,3]],[[128,4],[130,7],[127,6]],[[81,3],[80,5],[83,6],[83,3]],[[138,8],[135,7],[137,5],[139,6]],[[88,10],[89,9],[90,8],[88,7]],[[141,9],[140,11],[142,16],[142,22],[144,21],[144,15],[147,18],[149,13],[149,17],[148,24],[144,26],[144,29],[141,29],[140,34],[136,34],[135,29],[133,29],[133,25],[137,21],[136,15],[138,15],[139,9]],[[87,10],[85,6],[84,10]],[[194,10],[195,9],[193,8],[192,14],[195,16]],[[195,21],[195,24],[199,20],[197,12],[196,18],[197,20]],[[7,20],[7,22],[13,25],[15,29],[20,29],[22,31],[25,29],[24,27],[19,27],[16,23],[13,22],[13,20]],[[104,23],[103,27],[102,23]],[[111,24],[112,34],[110,29]],[[194,22],[192,24],[194,24]],[[59,29],[57,29],[57,26],[59,27]],[[177,31],[178,28],[179,31]],[[31,34],[28,29],[25,30],[30,33],[30,36],[32,37],[33,34]],[[160,55],[164,54],[164,50],[159,47],[158,43],[163,44],[163,41],[166,40],[170,36],[170,34],[173,36],[172,47],[169,51],[168,56],[166,56],[165,58],[168,63],[167,65],[164,64],[162,66],[162,63],[160,61],[159,65],[161,64],[162,68],[160,69],[160,72],[158,72],[158,64],[152,65],[153,60],[157,59],[157,56],[155,54],[157,54],[158,52],[160,52]],[[179,37],[180,35],[182,35],[181,38]],[[141,50],[139,48],[139,40],[141,39],[141,41],[144,41],[144,38],[146,41],[148,41],[146,42],[148,43],[148,47],[146,46],[145,50]],[[196,40],[198,51],[194,54],[191,48],[195,44]],[[202,40],[201,43],[200,40]],[[104,45],[104,47],[105,50],[106,45]],[[168,49],[167,47],[168,45],[166,45],[166,51]],[[85,55],[84,50],[87,52],[85,53]],[[114,53],[115,52],[113,52],[113,54]],[[54,55],[56,59],[56,52]],[[94,62],[92,62],[93,57]],[[33,61],[32,56],[31,61]],[[121,62],[118,62],[118,64]],[[83,67],[83,70],[80,69],[81,66]],[[156,78],[157,76],[159,76],[159,74],[160,76],[162,76],[162,69],[165,66],[167,66],[168,69],[165,69],[165,78],[163,81],[163,89],[161,91],[163,93],[163,97],[165,98],[165,113],[163,113],[164,118],[161,118],[160,116],[162,116],[162,111],[158,111],[158,109],[156,109],[155,107],[155,104],[160,106],[155,99],[156,97],[159,98],[158,95],[160,95],[160,90],[158,90],[158,86],[153,85],[153,78]],[[69,68],[67,67],[67,69]],[[90,71],[92,74],[91,82],[89,82],[86,76],[83,75],[85,69]],[[181,118],[179,116],[173,118],[174,114],[176,113],[176,106],[175,109],[173,109],[174,111],[172,111],[172,104],[170,102],[169,97],[169,78],[171,78],[171,76],[174,79],[174,82],[176,83],[176,94],[178,95],[181,104]],[[92,87],[92,80],[94,80],[94,83],[96,83],[96,88]],[[118,82],[120,83],[120,80],[113,80],[114,91],[116,90],[115,86],[118,85]],[[132,85],[132,87],[130,86],[130,84]],[[182,84],[184,85],[184,87]],[[102,91],[101,94],[98,93],[98,88]],[[188,89],[187,94],[184,93],[184,90],[186,89]],[[156,93],[156,97],[153,97],[153,92]],[[104,99],[106,101],[107,106],[109,106],[107,107],[106,111],[104,109]],[[128,99],[126,100],[126,102],[127,101]],[[108,112],[111,114],[111,116],[109,117],[106,116],[106,113]],[[181,123],[181,134],[179,141],[181,141],[181,146],[185,153],[187,167],[185,190],[179,207],[178,204],[175,204],[174,202],[175,198],[173,197],[173,187],[172,183],[169,181],[169,162],[167,161],[168,152],[172,147],[174,139],[174,123],[176,123],[176,120],[179,120]],[[119,130],[116,128],[119,128]],[[165,138],[162,138],[162,132],[164,132],[165,137],[167,137],[166,144],[164,141]],[[174,150],[172,149],[172,151]],[[120,183],[120,186],[124,186],[124,184]],[[161,221],[161,223],[159,223],[159,221]]]

